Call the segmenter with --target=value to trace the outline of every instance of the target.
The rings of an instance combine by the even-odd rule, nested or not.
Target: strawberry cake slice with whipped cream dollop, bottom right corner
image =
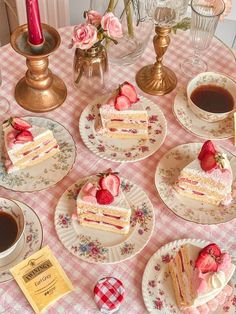
[[[230,255],[214,243],[203,249],[183,245],[168,266],[176,303],[183,314],[214,313],[232,294],[228,283],[235,266]]]

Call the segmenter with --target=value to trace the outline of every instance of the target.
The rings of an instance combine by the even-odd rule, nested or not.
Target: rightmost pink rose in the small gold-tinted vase
[[[111,38],[122,37],[123,33],[121,23],[112,12],[108,12],[102,17],[101,25],[102,28],[107,32],[109,37]]]

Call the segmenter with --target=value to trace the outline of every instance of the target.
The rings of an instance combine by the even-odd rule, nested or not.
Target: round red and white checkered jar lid
[[[114,277],[99,279],[93,291],[94,300],[104,314],[117,311],[124,300],[124,286],[119,279]]]

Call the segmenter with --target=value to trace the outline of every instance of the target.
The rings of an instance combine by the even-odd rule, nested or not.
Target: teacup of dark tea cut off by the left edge
[[[22,209],[14,201],[0,197],[0,259],[14,251],[24,230]]]

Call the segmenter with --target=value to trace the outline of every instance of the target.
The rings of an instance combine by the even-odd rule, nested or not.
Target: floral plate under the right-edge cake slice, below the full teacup
[[[158,193],[176,215],[199,224],[219,224],[236,218],[236,158],[227,154],[234,174],[233,201],[229,206],[214,206],[179,195],[174,189],[174,183],[188,163],[194,160],[200,151],[202,143],[179,145],[168,151],[159,161],[155,174],[155,184]]]

